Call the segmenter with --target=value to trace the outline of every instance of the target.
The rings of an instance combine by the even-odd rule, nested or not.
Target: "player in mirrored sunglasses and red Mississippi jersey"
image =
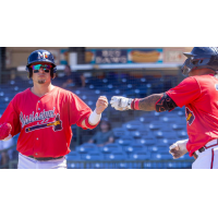
[[[0,140],[20,133],[17,140],[19,169],[66,169],[71,125],[95,129],[108,107],[100,96],[92,109],[75,94],[53,86],[53,56],[36,50],[27,59],[26,70],[34,86],[19,93],[0,118]]]

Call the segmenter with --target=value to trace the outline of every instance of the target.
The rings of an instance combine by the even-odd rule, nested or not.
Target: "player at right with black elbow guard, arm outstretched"
[[[218,48],[195,47],[182,66],[187,75],[177,87],[142,99],[113,96],[117,110],[171,111],[185,106],[189,138],[170,146],[174,159],[186,153],[195,158],[193,169],[218,169]]]

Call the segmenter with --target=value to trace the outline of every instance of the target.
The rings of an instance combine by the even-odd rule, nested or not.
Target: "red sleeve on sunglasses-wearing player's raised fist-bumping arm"
[[[71,125],[76,124],[80,128],[86,130],[87,128],[82,126],[82,122],[88,118],[92,112],[92,109],[80,97],[74,94],[70,96],[69,119]]]

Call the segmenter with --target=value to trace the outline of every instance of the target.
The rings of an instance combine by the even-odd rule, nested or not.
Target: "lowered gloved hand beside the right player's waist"
[[[178,159],[187,153],[186,144],[189,140],[178,141],[177,143],[170,146],[170,154],[173,159]]]

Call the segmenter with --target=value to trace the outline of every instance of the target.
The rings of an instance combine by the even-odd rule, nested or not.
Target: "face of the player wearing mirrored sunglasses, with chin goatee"
[[[50,76],[50,70],[47,70],[45,68],[39,68],[38,70],[33,70],[33,81],[37,84],[46,84],[50,83],[51,76]]]

